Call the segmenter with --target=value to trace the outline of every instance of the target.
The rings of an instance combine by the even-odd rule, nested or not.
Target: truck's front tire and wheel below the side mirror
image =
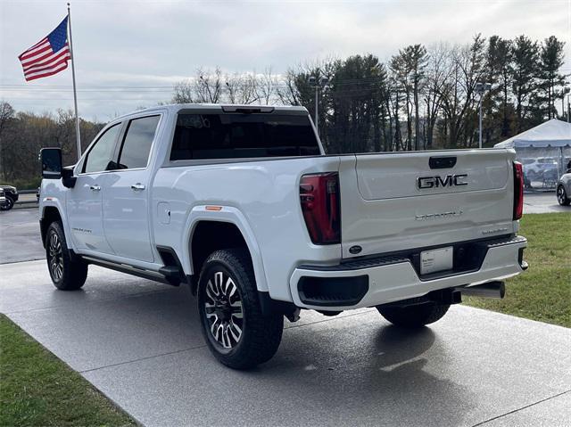
[[[61,291],[76,291],[87,279],[87,263],[71,259],[62,223],[54,221],[46,232],[47,269],[52,283]]]

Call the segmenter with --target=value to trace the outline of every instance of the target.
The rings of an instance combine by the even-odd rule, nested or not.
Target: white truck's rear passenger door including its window
[[[153,262],[149,222],[148,168],[160,114],[128,120],[103,192],[103,226],[107,242],[120,257]]]

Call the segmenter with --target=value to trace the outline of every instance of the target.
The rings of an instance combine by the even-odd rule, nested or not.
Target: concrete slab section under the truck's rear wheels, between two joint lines
[[[286,330],[277,356],[253,372],[221,367],[200,348],[85,376],[145,425],[474,425],[571,383],[569,333],[546,364],[538,349],[549,337],[514,345],[494,331],[517,322],[492,317],[455,308],[410,334],[368,312]],[[555,416],[563,422],[571,409]]]

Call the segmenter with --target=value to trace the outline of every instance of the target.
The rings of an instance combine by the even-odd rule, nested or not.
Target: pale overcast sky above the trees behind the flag
[[[198,67],[279,74],[331,55],[385,61],[405,45],[466,43],[478,32],[555,35],[567,43],[571,73],[571,0],[74,0],[71,8],[79,114],[101,121],[170,100],[170,86]],[[0,99],[15,109],[72,107],[71,68],[26,83],[18,61],[66,12],[65,1],[0,0]]]

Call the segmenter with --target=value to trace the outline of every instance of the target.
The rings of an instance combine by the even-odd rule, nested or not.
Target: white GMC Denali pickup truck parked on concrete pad
[[[304,108],[183,104],[113,120],[73,167],[41,158],[54,285],[81,288],[89,264],[187,283],[236,369],[269,360],[300,309],[418,327],[527,267],[511,150],[327,155]]]

